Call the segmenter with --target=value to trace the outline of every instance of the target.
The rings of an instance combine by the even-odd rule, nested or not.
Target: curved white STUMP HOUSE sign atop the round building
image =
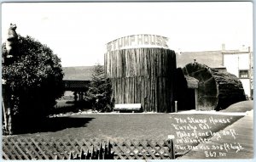
[[[112,42],[107,43],[109,51],[135,48],[135,47],[163,47],[168,48],[168,38],[165,36],[139,34],[120,37]]]

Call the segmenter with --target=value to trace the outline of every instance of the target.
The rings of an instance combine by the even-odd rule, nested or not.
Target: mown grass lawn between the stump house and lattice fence
[[[172,124],[177,124],[175,118],[187,119],[229,119],[230,123],[210,125],[212,132],[229,126],[240,119],[241,116],[228,115],[182,115],[182,114],[108,114],[108,115],[72,115],[51,118],[44,121],[44,126],[31,133],[15,135],[16,137],[70,137],[96,140],[123,141],[125,139],[152,139],[166,140],[168,135],[177,138],[176,129]],[[187,126],[187,124],[178,124]],[[201,130],[198,124],[198,132]],[[37,132],[38,131],[38,132]],[[186,130],[186,132],[192,132]],[[193,143],[197,145],[198,143]],[[185,144],[184,144],[185,145]],[[177,150],[179,152],[179,150]]]

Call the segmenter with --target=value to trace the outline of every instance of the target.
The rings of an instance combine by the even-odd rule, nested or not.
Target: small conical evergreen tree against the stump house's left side
[[[92,70],[92,81],[89,90],[86,92],[85,99],[92,104],[97,111],[111,111],[111,82],[106,77],[104,68],[101,64],[96,64]]]

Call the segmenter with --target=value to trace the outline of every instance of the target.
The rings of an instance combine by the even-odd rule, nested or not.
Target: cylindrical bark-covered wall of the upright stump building
[[[172,112],[175,52],[160,47],[105,53],[105,70],[118,103],[141,103],[144,112]]]

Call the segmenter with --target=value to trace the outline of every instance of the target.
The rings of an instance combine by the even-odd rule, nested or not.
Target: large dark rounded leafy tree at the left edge
[[[18,55],[8,59],[3,43],[2,78],[6,81],[7,91],[3,98],[10,109],[11,124],[15,127],[19,124],[20,127],[20,121],[29,119],[32,123],[32,120],[41,120],[49,114],[55,99],[60,98],[64,92],[64,74],[61,59],[31,36],[20,36],[17,48]]]

